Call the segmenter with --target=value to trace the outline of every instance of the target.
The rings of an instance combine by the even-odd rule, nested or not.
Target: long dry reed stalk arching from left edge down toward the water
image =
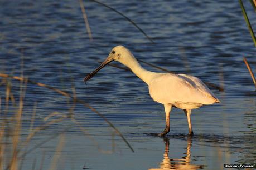
[[[25,81],[25,78],[22,78],[22,77],[18,77],[18,76],[10,76],[8,74],[3,74],[3,73],[0,73],[0,77],[3,77],[3,78],[12,78],[12,79],[16,79],[18,81]],[[57,93],[60,93],[62,94],[63,96],[65,97],[69,97],[71,99],[73,99],[73,101],[77,102],[77,103],[80,103],[80,104],[83,104],[83,106],[85,107],[88,107],[91,109],[91,111],[95,112],[96,114],[98,114],[98,116],[100,116],[105,122],[107,122],[109,124],[110,127],[112,127],[115,132],[123,139],[123,141],[127,144],[127,146],[131,149],[132,152],[134,152],[133,148],[131,147],[131,145],[128,143],[128,141],[124,138],[123,134],[111,123],[108,121],[108,119],[101,113],[99,113],[94,107],[91,107],[88,103],[84,102],[84,101],[81,101],[80,99],[78,98],[75,98],[74,96],[71,96],[71,94],[65,92],[65,91],[61,91],[60,89],[57,89],[57,88],[54,88],[54,87],[51,87],[51,86],[48,86],[46,84],[43,84],[43,83],[37,83],[35,81],[31,81],[29,79],[26,79],[26,81],[28,83],[31,83],[31,84],[36,84],[37,86],[40,86],[40,87],[45,87],[47,89],[51,89]]]

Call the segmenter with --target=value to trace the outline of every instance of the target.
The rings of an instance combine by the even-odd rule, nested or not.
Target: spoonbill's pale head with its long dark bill
[[[131,62],[131,60],[135,60],[135,58],[133,54],[129,51],[129,49],[125,48],[124,46],[116,46],[110,51],[105,61],[102,64],[100,64],[98,68],[96,68],[93,72],[91,72],[84,78],[84,81],[86,82],[89,79],[91,79],[98,71],[100,71],[100,69],[102,69],[112,61],[118,61],[127,66],[129,62]]]

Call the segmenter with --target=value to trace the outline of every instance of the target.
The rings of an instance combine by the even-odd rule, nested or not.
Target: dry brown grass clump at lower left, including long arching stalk
[[[2,108],[1,108],[2,101],[1,101],[1,97],[0,97],[0,114],[1,114],[1,119],[0,119],[0,170],[2,170],[2,169],[11,169],[11,170],[21,169],[22,163],[23,163],[22,160],[23,160],[23,158],[25,158],[25,156],[28,153],[31,153],[36,148],[42,146],[46,142],[49,142],[51,139],[54,139],[59,135],[61,137],[59,139],[59,143],[57,144],[55,153],[60,153],[61,149],[64,147],[64,143],[65,143],[64,134],[65,134],[65,132],[68,131],[68,129],[70,127],[63,129],[63,131],[55,134],[54,136],[51,136],[50,138],[47,138],[46,140],[36,144],[34,147],[32,147],[30,149],[27,149],[27,144],[31,141],[31,139],[35,136],[35,134],[44,130],[47,127],[51,127],[55,123],[64,121],[64,119],[70,119],[71,122],[73,122],[74,124],[76,124],[76,126],[78,126],[80,128],[81,133],[88,134],[86,129],[84,129],[82,126],[80,126],[80,123],[78,121],[76,121],[76,119],[74,117],[70,116],[70,114],[62,114],[59,112],[50,113],[48,116],[46,116],[44,118],[45,124],[43,124],[42,126],[33,127],[33,124],[35,122],[36,105],[37,105],[37,103],[35,103],[35,106],[32,109],[33,112],[32,112],[32,118],[30,121],[30,129],[28,131],[29,133],[28,133],[27,137],[25,138],[25,140],[23,139],[23,141],[22,141],[22,139],[21,139],[22,113],[23,113],[23,108],[24,108],[23,106],[24,106],[24,101],[25,101],[27,83],[36,84],[37,86],[51,89],[52,91],[55,91],[55,92],[61,94],[62,96],[69,97],[69,98],[73,99],[73,104],[69,109],[69,113],[73,113],[76,103],[83,104],[85,107],[90,108],[92,111],[94,111],[100,117],[102,117],[104,119],[104,121],[106,121],[109,124],[109,126],[115,130],[115,133],[119,134],[119,136],[123,139],[123,141],[125,143],[127,143],[128,147],[133,152],[132,147],[126,141],[126,139],[123,137],[122,133],[120,133],[118,131],[118,129],[115,128],[114,125],[111,122],[109,122],[107,118],[105,118],[103,116],[103,114],[96,111],[96,109],[91,107],[88,103],[85,103],[85,102],[81,101],[80,99],[76,98],[75,89],[73,90],[74,94],[71,95],[67,92],[61,91],[54,87],[47,86],[46,84],[33,82],[27,78],[24,78],[23,76],[21,76],[21,77],[9,76],[7,74],[0,73],[0,77],[2,77],[1,84],[2,85],[4,84],[6,87],[4,111],[2,111]],[[20,97],[18,99],[18,104],[15,103],[16,99],[12,94],[10,79],[16,79],[16,80],[20,81]],[[16,111],[15,111],[15,114],[13,114],[13,116],[7,117],[8,112],[11,112],[11,111],[9,111],[9,107],[11,104],[12,104],[12,107],[14,107]],[[49,119],[51,117],[56,116],[56,115],[59,118],[49,121]],[[100,152],[104,152],[100,149],[100,147],[98,146],[98,143],[96,143],[92,137],[89,137],[89,139],[93,140],[94,144],[99,148]],[[11,141],[11,148],[10,148],[10,146],[7,146],[7,144],[6,144],[8,140]],[[11,151],[10,151],[10,149],[11,149]],[[59,159],[59,156],[57,154],[56,154],[56,156],[52,157],[52,163],[50,165],[50,169],[56,169],[58,159]],[[40,166],[41,168],[42,168],[42,165],[44,164],[43,162],[44,162],[44,159],[41,160],[41,166]],[[32,169],[33,169],[33,167],[35,168],[35,165],[36,165],[36,159],[33,163]]]

